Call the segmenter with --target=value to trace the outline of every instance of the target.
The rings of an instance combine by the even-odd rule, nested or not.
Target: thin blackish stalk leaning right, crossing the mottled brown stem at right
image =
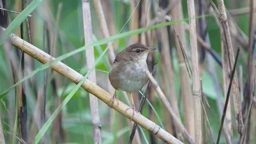
[[[226,116],[226,111],[227,111],[227,107],[228,107],[228,101],[229,101],[229,97],[230,97],[230,91],[231,91],[231,87],[232,87],[232,83],[233,83],[233,79],[234,79],[234,74],[235,74],[235,71],[236,71],[236,64],[237,64],[237,60],[238,60],[239,51],[240,51],[240,48],[238,48],[238,50],[237,50],[236,60],[235,60],[235,64],[234,64],[234,70],[232,71],[232,74],[231,74],[231,77],[230,77],[230,83],[229,83],[229,86],[228,86],[228,93],[227,93],[227,96],[226,96],[225,106],[224,106],[224,110],[223,110],[223,114],[222,114],[222,118],[221,118],[221,123],[220,123],[220,130],[219,130],[218,139],[217,139],[216,144],[218,144],[220,142],[220,134],[221,134],[223,124],[224,124],[224,120],[225,120],[225,116]]]

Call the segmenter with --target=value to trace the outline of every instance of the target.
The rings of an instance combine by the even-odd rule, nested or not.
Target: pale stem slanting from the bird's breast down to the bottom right
[[[166,96],[164,95],[164,93],[162,92],[160,87],[158,86],[158,84],[157,84],[156,80],[154,79],[154,77],[150,74],[149,70],[145,69],[144,72],[145,72],[146,76],[148,77],[149,81],[151,82],[154,90],[158,94],[159,98],[161,99],[162,103],[167,108],[167,110],[170,112],[174,122],[176,123],[176,125],[178,126],[180,131],[182,132],[182,134],[185,137],[185,139],[188,141],[189,144],[194,144],[193,139],[188,134],[186,128],[183,126],[183,124],[182,124],[180,118],[178,117],[178,115],[174,112],[171,104],[169,103],[169,101],[167,100]]]

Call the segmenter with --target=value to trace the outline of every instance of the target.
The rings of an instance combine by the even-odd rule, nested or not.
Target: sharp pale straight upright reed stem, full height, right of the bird
[[[201,129],[201,88],[198,66],[198,50],[196,38],[196,20],[194,0],[188,0],[188,18],[189,18],[189,36],[191,48],[192,78],[193,78],[193,104],[194,104],[194,126],[195,126],[195,142],[202,143]]]

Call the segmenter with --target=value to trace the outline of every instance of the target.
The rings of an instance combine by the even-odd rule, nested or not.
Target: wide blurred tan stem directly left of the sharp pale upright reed
[[[176,0],[170,0],[171,3],[176,3]],[[176,6],[172,9],[172,18],[174,20],[182,20],[184,19],[183,11],[182,11],[182,3],[181,1],[177,2]],[[175,29],[180,37],[180,41],[183,45],[184,52],[187,52],[186,45],[186,33],[184,23],[176,23],[174,24]],[[186,64],[184,61],[184,57],[182,54],[182,49],[180,47],[180,43],[177,37],[175,37],[175,48],[178,56],[179,63],[179,72],[180,72],[180,92],[181,98],[183,102],[183,112],[184,112],[184,120],[186,129],[188,133],[194,140],[194,111],[193,111],[193,96],[192,96],[192,88],[191,82],[188,74],[188,70],[186,68]]]

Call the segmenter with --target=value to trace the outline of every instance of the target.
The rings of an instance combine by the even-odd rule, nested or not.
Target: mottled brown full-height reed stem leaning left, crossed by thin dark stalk
[[[224,44],[227,47],[228,50],[228,59],[229,59],[229,65],[230,65],[230,71],[232,72],[234,70],[234,52],[232,48],[232,42],[228,27],[228,20],[226,15],[226,10],[224,6],[223,0],[217,0],[218,2],[218,9],[220,12],[219,20],[222,24],[222,29],[224,33]],[[233,80],[233,100],[234,100],[234,108],[235,108],[235,115],[236,115],[236,124],[238,128],[238,140],[240,140],[242,131],[244,129],[244,123],[242,119],[242,110],[241,110],[241,104],[240,104],[240,96],[239,96],[239,88],[238,88],[238,78],[237,73],[234,74],[234,80]]]

